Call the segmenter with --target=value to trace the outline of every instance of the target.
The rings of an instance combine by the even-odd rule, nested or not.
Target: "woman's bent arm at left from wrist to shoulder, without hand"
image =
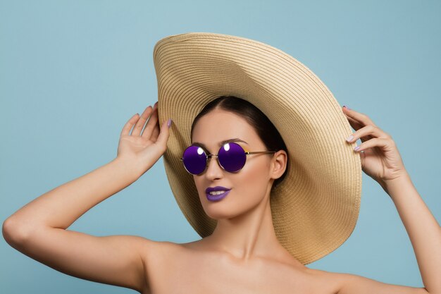
[[[64,274],[141,292],[145,278],[140,253],[148,247],[142,238],[66,230],[87,210],[133,183],[136,176],[127,169],[115,159],[37,197],[6,219],[5,240]]]

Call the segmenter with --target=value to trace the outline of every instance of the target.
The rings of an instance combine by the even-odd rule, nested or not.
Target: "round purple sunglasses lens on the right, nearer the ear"
[[[219,150],[219,164],[230,173],[239,171],[244,167],[245,161],[247,161],[247,155],[239,144],[230,142],[221,147]]]

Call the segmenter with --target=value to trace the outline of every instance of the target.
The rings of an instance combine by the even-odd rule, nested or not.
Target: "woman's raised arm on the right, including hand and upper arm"
[[[365,114],[344,109],[356,130],[347,142],[361,140],[363,171],[376,180],[397,207],[414,247],[425,288],[391,285],[352,274],[336,274],[339,294],[430,293],[441,294],[441,228],[416,191],[392,137],[378,128]]]

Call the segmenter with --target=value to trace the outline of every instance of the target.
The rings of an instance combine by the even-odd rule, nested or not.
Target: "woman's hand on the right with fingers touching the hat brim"
[[[389,180],[406,176],[402,158],[392,137],[378,128],[371,118],[352,109],[343,107],[349,124],[356,130],[352,143],[360,139],[361,144],[355,152],[361,152],[361,168],[364,173],[384,185]],[[384,187],[384,186],[383,186]]]

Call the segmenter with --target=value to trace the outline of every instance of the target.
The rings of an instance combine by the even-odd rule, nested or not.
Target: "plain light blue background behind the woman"
[[[340,105],[392,135],[439,223],[440,16],[435,0],[0,1],[1,223],[116,157],[125,122],[156,102],[154,44],[183,32],[256,39],[304,63]],[[162,158],[69,229],[199,239]],[[135,293],[62,274],[0,239],[1,293]],[[423,287],[395,205],[366,174],[354,232],[308,267]]]

